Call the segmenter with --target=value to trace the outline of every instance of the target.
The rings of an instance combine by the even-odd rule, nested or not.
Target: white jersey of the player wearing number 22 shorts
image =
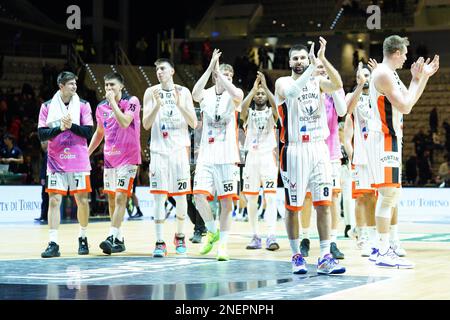
[[[244,149],[249,152],[271,152],[277,146],[272,108],[249,109]]]

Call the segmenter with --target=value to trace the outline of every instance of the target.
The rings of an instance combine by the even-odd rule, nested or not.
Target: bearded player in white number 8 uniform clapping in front
[[[317,211],[320,238],[319,274],[339,274],[345,268],[330,254],[330,209],[332,194],[332,169],[330,153],[325,143],[329,135],[322,92],[342,88],[339,73],[325,58],[326,40],[319,39],[318,58],[322,61],[329,79],[314,77],[316,57],[314,46],[308,56],[305,46],[296,45],[289,51],[291,76],[281,77],[275,83],[278,113],[281,118],[280,140],[284,147],[280,153],[280,171],[286,195],[286,229],[293,253],[292,271],[307,272],[306,261],[300,254],[298,212],[302,210],[306,189],[309,187]],[[311,59],[311,65],[310,65]]]

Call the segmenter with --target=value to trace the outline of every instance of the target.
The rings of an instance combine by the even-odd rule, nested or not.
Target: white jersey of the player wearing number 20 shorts
[[[179,93],[184,99],[186,88]],[[161,90],[162,105],[152,125],[150,151],[170,154],[174,150],[189,147],[191,140],[188,124],[176,106],[175,90]]]

